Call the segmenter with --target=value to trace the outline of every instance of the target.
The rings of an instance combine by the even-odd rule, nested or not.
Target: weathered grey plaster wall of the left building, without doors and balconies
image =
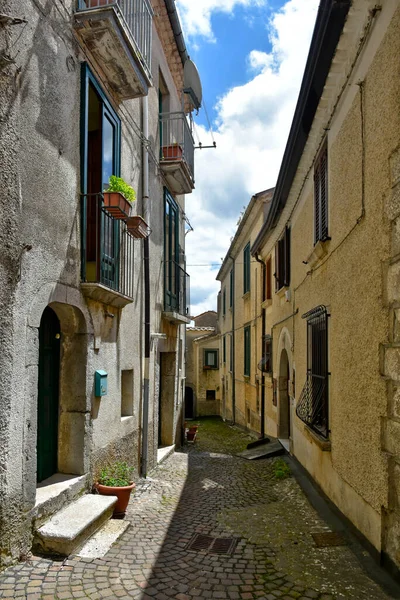
[[[9,66],[2,63],[0,68],[2,564],[30,548],[30,514],[36,496],[38,330],[45,307],[54,309],[61,325],[61,472],[94,473],[114,457],[127,460],[139,472],[145,301],[150,304],[151,331],[162,331],[164,196],[153,158],[159,148],[160,71],[169,88],[171,111],[180,110],[180,97],[153,27],[150,200],[144,206],[142,101],[119,104],[99,80],[121,119],[121,175],[137,191],[134,212],[146,211],[152,230],[151,296],[143,298],[143,243],[137,240],[133,302],[120,309],[88,301],[80,291],[80,67],[88,57],[74,36],[73,7],[72,0],[63,6],[50,0],[7,0],[1,10],[26,19],[26,23],[0,27],[0,51],[13,58]],[[96,75],[96,66],[90,66]],[[184,197],[177,200],[183,207]],[[183,222],[181,230],[183,245]],[[183,328],[172,327],[169,337],[168,344],[181,361],[176,365],[178,383],[172,402],[176,428],[184,378],[183,352],[179,352]],[[159,344],[152,343],[149,469],[157,462],[159,352]],[[94,396],[96,369],[108,372],[108,394],[101,399]],[[123,416],[121,373],[125,370],[133,372],[133,408],[131,415]]]

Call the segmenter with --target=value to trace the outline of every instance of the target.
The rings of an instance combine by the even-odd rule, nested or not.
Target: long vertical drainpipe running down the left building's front
[[[149,104],[148,97],[142,98],[143,136],[149,139]],[[142,143],[143,164],[143,219],[150,225],[149,210],[149,154],[146,143]],[[149,388],[150,388],[150,244],[149,237],[143,240],[144,261],[144,365],[143,365],[143,425],[142,425],[142,456],[141,475],[147,476],[147,457],[149,445]]]

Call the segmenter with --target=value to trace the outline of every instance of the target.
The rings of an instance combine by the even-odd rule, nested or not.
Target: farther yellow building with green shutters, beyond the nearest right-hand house
[[[220,331],[221,416],[261,430],[260,303],[262,266],[250,248],[266,219],[273,189],[255,194],[244,212],[217,275]],[[259,346],[259,347],[258,347]]]

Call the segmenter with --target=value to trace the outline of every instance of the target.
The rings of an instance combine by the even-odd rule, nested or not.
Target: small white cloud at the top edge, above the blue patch
[[[211,27],[213,13],[233,14],[236,6],[262,6],[265,0],[177,0],[177,8],[183,30],[189,37],[203,36],[214,41]]]

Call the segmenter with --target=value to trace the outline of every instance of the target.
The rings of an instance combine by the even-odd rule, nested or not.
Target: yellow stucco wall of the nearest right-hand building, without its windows
[[[268,390],[267,431],[279,434],[280,430],[279,378],[285,349],[293,453],[368,540],[378,550],[386,548],[400,564],[394,496],[392,504],[389,500],[386,533],[385,520],[382,527],[388,489],[395,489],[397,481],[396,436],[392,435],[397,417],[392,412],[385,418],[385,378],[398,379],[397,359],[392,360],[397,301],[390,298],[397,285],[391,285],[396,280],[390,274],[397,253],[397,213],[390,215],[388,210],[396,197],[397,179],[390,167],[400,137],[396,59],[400,9],[388,0],[381,11],[369,12],[372,4],[353,3],[287,205],[262,251],[263,258],[271,255],[273,261],[280,232],[287,223],[291,226],[291,302],[284,305],[278,293],[267,309],[273,335],[273,377],[278,385],[276,408],[272,389]],[[363,51],[355,62],[360,44],[364,44]],[[314,248],[313,163],[325,137],[331,240]],[[390,219],[394,221],[392,233]],[[321,304],[330,315],[328,444],[295,415],[307,369],[306,322],[301,316]],[[391,314],[389,306],[394,309]],[[395,403],[395,394],[391,395],[395,388],[393,381],[389,411]],[[389,479],[388,451],[392,455]]]

